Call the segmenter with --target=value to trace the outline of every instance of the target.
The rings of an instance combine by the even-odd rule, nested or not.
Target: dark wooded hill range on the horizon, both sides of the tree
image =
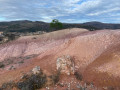
[[[87,22],[81,24],[69,24],[63,23],[63,29],[66,28],[85,28],[88,30],[99,30],[99,29],[120,29],[120,24],[108,24],[101,22]],[[11,21],[11,22],[0,22],[0,31],[7,32],[35,32],[35,31],[46,31],[50,32],[53,29],[50,28],[49,23],[42,21]]]

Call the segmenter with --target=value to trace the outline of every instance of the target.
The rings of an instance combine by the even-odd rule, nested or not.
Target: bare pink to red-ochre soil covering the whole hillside
[[[29,55],[36,56],[24,59],[22,64],[17,62],[19,57]],[[53,74],[56,72],[56,59],[63,55],[74,57],[76,72],[82,74],[83,81],[75,79],[74,75],[61,75],[59,82],[89,82],[94,83],[98,90],[105,90],[103,87],[120,90],[120,31],[87,31],[78,28],[38,36],[23,36],[0,45],[1,62],[10,57],[18,57],[13,64],[0,69],[0,85],[18,80],[35,66],[40,66],[48,75]],[[15,70],[8,70],[11,65]],[[54,90],[53,87],[50,87],[51,90]],[[74,84],[71,87],[77,90]],[[56,90],[65,88],[58,87]]]

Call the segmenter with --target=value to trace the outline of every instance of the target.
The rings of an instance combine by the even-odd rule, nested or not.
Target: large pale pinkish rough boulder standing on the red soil
[[[69,55],[62,56],[57,59],[57,70],[67,75],[74,74],[75,64],[73,58]]]

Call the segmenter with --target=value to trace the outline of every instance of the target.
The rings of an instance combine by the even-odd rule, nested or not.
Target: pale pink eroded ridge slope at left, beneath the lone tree
[[[70,38],[85,33],[85,29],[65,29],[38,36],[24,36],[0,46],[0,61],[9,57],[40,54],[52,49]]]

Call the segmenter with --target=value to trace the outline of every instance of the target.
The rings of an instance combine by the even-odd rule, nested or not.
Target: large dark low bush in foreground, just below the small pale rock
[[[17,83],[17,87],[20,90],[36,90],[45,86],[46,76],[41,74],[32,74],[24,81]]]

